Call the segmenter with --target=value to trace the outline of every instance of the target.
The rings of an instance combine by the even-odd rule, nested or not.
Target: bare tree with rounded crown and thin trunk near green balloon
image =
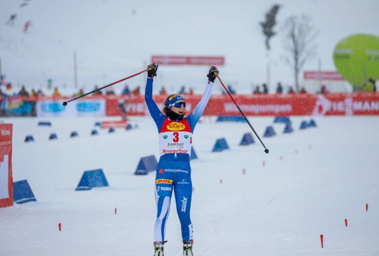
[[[295,87],[299,91],[299,73],[307,60],[316,55],[314,39],[318,32],[306,15],[290,16],[283,25],[285,62],[293,69]]]

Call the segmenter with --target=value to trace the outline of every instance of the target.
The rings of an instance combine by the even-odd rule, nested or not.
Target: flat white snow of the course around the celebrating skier
[[[153,255],[155,175],[133,173],[140,157],[158,159],[158,136],[151,118],[130,119],[139,129],[98,136],[94,118],[3,119],[13,123],[13,179],[27,179],[38,202],[0,209],[0,255]],[[277,136],[262,138],[269,154],[257,139],[238,145],[246,123],[204,118],[195,129],[195,255],[379,255],[379,119],[320,117],[300,131],[309,117],[292,117],[292,134],[273,117],[249,119],[260,136],[273,125]],[[48,140],[52,132],[58,140]],[[230,150],[212,153],[221,137]],[[83,171],[97,168],[110,186],[75,191]],[[172,204],[167,256],[182,253]]]

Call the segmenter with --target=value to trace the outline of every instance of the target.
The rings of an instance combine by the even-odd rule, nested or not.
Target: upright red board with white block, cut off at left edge
[[[12,124],[0,123],[0,208],[13,205]]]

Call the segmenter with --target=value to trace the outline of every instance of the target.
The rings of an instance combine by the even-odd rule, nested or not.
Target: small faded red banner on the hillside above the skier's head
[[[173,56],[173,55],[153,55],[152,63],[159,65],[217,65],[223,66],[225,58],[223,56]]]

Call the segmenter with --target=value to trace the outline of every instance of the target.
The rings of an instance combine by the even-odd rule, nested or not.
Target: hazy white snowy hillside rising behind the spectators
[[[20,4],[27,3],[20,7]],[[259,25],[273,4],[280,4],[277,35],[271,51],[264,45]],[[6,22],[13,13],[12,26]],[[319,31],[318,56],[304,70],[335,70],[332,53],[344,37],[356,33],[379,36],[377,0],[286,1],[115,1],[31,0],[0,1],[0,58],[3,73],[13,83],[28,87],[54,84],[73,87],[73,51],[78,56],[78,83],[86,91],[95,83],[107,84],[141,71],[151,55],[225,56],[220,77],[240,91],[266,81],[293,84],[293,75],[282,60],[281,27],[290,15],[307,14]],[[24,33],[24,24],[31,21]],[[157,84],[202,88],[208,67],[161,66]],[[130,80],[131,87],[143,77]]]

